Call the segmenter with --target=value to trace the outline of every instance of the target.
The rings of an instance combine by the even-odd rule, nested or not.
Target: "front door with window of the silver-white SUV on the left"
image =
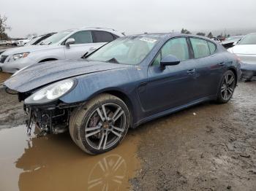
[[[75,44],[70,44],[69,47],[64,48],[67,59],[81,58],[86,52],[95,48],[91,31],[78,31],[69,38],[75,39]]]

